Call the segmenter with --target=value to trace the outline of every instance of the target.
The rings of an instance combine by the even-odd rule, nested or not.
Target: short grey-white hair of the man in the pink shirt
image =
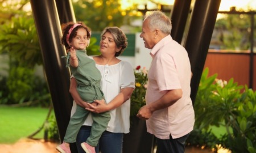
[[[170,18],[161,11],[150,11],[144,16],[144,20],[150,19],[148,27],[151,30],[159,29],[163,33],[171,34],[172,23]]]

